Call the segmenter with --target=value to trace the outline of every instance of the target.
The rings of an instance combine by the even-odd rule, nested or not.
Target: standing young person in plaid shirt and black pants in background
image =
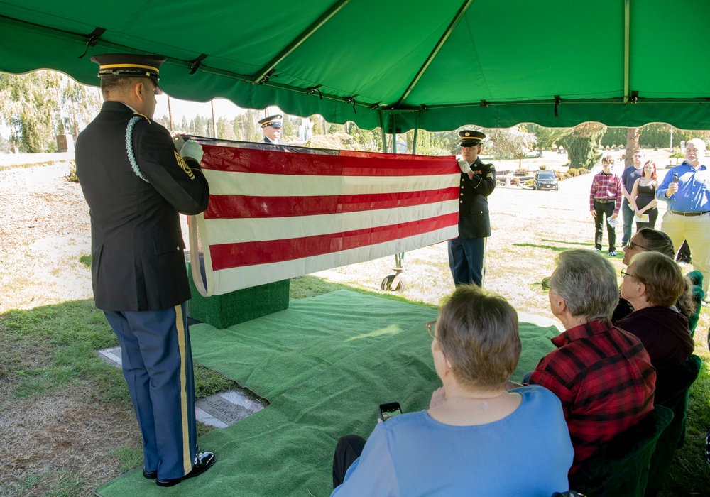
[[[594,217],[594,251],[601,250],[601,237],[603,231],[601,224],[603,216],[606,216],[606,232],[609,236],[609,255],[616,257],[616,218],[621,209],[621,178],[611,172],[614,160],[611,155],[601,159],[601,173],[594,175],[591,180],[591,190],[589,191],[589,211]],[[614,219],[611,226],[609,219]]]

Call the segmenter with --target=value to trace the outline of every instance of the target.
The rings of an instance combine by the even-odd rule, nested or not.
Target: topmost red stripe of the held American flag
[[[453,157],[342,153],[320,155],[203,145],[203,169],[306,176],[432,176],[459,173]]]

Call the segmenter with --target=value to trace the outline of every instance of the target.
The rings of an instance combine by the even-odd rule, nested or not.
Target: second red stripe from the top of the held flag
[[[310,197],[252,197],[210,195],[204,219],[297,217],[339,212],[364,212],[413,205],[435,204],[459,197],[457,187],[422,192],[367,195],[313,195]]]

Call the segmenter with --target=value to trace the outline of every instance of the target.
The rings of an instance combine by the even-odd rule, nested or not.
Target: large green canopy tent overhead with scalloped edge
[[[173,97],[366,129],[708,129],[710,66],[686,29],[704,18],[700,0],[9,0],[0,70],[97,84],[91,55],[155,53]]]

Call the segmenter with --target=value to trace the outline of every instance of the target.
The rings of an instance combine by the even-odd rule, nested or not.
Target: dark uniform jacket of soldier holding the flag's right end
[[[496,168],[477,158],[471,171],[474,178],[461,173],[459,185],[459,238],[463,239],[491,236],[488,195],[496,188]]]

